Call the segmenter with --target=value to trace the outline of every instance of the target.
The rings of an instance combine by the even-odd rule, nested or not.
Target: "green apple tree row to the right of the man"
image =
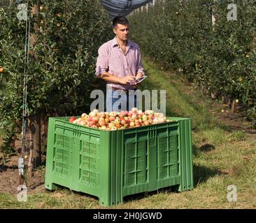
[[[228,21],[229,3],[233,1],[157,1],[148,13],[134,12],[129,21],[134,40],[159,66],[182,71],[209,95],[238,99],[256,121],[256,3],[234,1],[237,21]]]

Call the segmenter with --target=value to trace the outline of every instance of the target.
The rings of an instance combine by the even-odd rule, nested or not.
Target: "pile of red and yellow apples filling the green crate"
[[[69,118],[71,123],[100,130],[122,130],[169,121],[171,120],[168,120],[162,113],[155,113],[152,110],[142,112],[136,107],[131,109],[131,111],[121,112],[99,112],[97,109],[94,109],[89,114],[83,113],[80,118],[75,116]]]

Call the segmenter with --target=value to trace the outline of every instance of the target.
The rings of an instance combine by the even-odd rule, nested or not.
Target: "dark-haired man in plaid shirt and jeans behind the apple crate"
[[[113,20],[115,38],[99,47],[96,77],[104,79],[106,84],[106,111],[120,112],[136,107],[134,91],[138,84],[134,79],[144,76],[141,63],[141,51],[129,37],[129,22],[118,16]],[[129,91],[134,90],[134,91]]]

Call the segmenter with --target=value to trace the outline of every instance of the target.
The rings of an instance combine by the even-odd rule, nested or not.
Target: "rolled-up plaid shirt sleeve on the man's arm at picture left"
[[[96,63],[96,77],[100,77],[104,72],[108,72],[108,50],[102,45],[98,50],[98,58]]]

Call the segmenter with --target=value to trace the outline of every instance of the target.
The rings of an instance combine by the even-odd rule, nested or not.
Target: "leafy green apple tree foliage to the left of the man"
[[[35,3],[29,1],[29,8]],[[26,23],[17,20],[16,1],[3,0],[0,7],[0,124],[13,130],[22,118]],[[29,20],[31,33],[39,24],[27,68],[29,115],[88,112],[91,91],[103,87],[94,78],[97,49],[113,38],[108,13],[99,0],[48,0]]]

